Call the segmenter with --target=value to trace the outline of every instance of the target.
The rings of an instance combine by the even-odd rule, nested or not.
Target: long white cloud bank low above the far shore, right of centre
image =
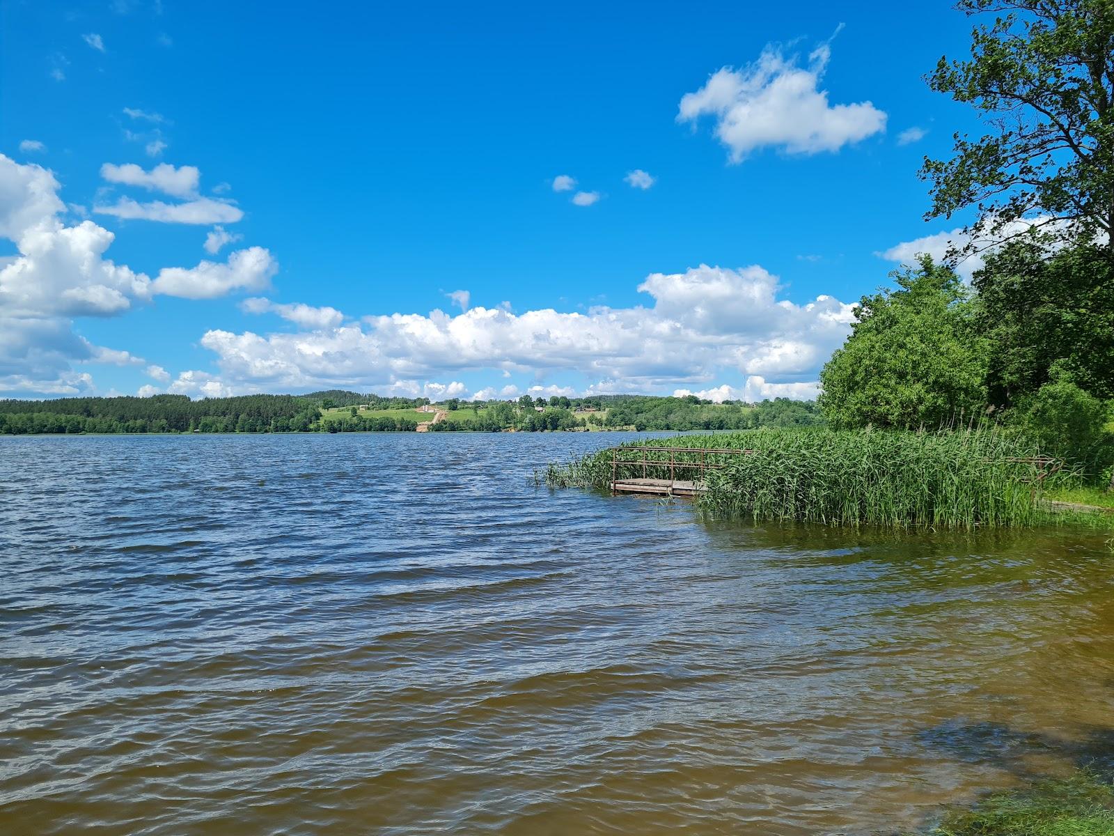
[[[236,390],[387,390],[402,381],[488,370],[576,372],[599,381],[593,391],[698,389],[693,383],[706,386],[733,371],[764,376],[768,386],[790,392],[809,391],[813,385],[799,381],[815,379],[852,319],[852,307],[831,297],[804,304],[780,298],[775,276],[759,266],[655,273],[639,290],[651,307],[393,313],[328,328],[313,323],[299,333],[211,330],[201,344],[214,352],[219,379]]]

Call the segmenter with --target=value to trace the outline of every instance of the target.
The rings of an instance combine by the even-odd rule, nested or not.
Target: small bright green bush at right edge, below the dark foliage
[[[1114,456],[1110,418],[1110,407],[1076,386],[1063,361],[1053,364],[1052,380],[1018,408],[1018,422],[1042,449],[1092,475]]]

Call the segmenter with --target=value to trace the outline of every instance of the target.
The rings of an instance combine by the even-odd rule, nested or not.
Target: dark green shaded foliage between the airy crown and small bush
[[[1092,395],[1114,398],[1114,263],[1102,247],[1049,254],[1015,242],[987,255],[974,286],[977,325],[989,338],[991,404],[1035,392],[1057,360]]]

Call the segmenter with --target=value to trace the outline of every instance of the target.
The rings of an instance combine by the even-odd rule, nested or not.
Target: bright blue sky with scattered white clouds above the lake
[[[809,397],[962,221],[945,2],[0,9],[4,397]]]

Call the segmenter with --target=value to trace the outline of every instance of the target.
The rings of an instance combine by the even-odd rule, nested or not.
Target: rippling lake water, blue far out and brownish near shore
[[[1114,754],[1103,537],[532,485],[631,438],[0,437],[0,833],[889,833]]]

